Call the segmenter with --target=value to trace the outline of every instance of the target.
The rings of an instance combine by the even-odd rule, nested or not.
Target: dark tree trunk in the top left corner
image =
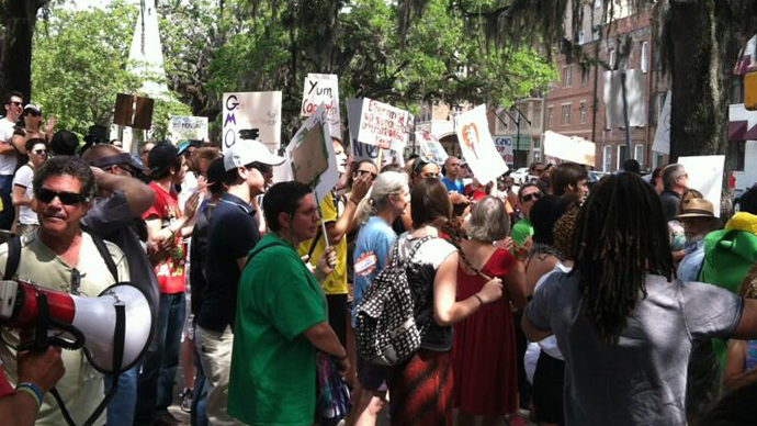
[[[32,37],[37,11],[48,0],[0,0],[5,26],[0,47],[0,93],[18,90],[32,94]]]

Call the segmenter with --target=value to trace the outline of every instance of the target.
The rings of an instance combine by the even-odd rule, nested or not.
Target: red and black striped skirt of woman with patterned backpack
[[[392,426],[452,425],[452,361],[450,351],[420,349],[392,368],[389,388]]]

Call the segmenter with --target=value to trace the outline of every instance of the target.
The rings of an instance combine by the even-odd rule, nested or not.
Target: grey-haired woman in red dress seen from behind
[[[492,278],[500,278],[508,296],[482,306],[454,325],[452,363],[454,407],[459,424],[501,425],[504,417],[518,412],[516,338],[510,303],[526,305],[526,253],[517,259],[493,243],[504,239],[510,223],[501,200],[486,197],[475,204],[467,224],[470,239],[462,242],[457,267],[457,300],[476,294]]]

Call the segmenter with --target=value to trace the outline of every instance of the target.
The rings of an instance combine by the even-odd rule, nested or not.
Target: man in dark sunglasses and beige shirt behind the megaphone
[[[37,293],[45,293],[47,291],[44,289],[49,289],[71,294],[69,299],[74,302],[68,303],[75,305],[74,311],[79,314],[76,310],[84,305],[83,302],[101,295],[118,281],[128,281],[127,261],[117,246],[102,242],[80,228],[79,221],[89,210],[94,194],[94,176],[84,161],[66,156],[49,159],[37,170],[33,188],[39,228],[20,238],[18,258],[14,257],[13,254],[16,251],[10,244],[0,246],[0,271],[4,273],[5,280],[22,280],[35,284],[39,289]],[[9,277],[5,272],[13,269],[12,266],[15,270]],[[30,287],[19,282],[19,288],[29,291]],[[111,299],[123,300],[118,292],[114,292]],[[104,306],[95,302],[88,303],[87,306],[95,310]],[[98,322],[98,315],[90,315],[89,321],[74,325],[80,328],[90,327],[89,330],[81,332],[84,335],[88,332],[112,329],[110,324],[105,324],[106,321]],[[105,332],[105,335],[108,333],[113,339],[112,332]],[[3,329],[2,335],[0,356],[3,367],[9,381],[18,385],[23,377],[19,369],[22,365],[16,363],[15,347],[22,341],[19,334],[10,329]],[[91,340],[97,338],[88,339],[88,345],[97,344]],[[114,340],[110,341],[112,346]],[[110,346],[105,344],[97,348],[103,351],[99,356],[108,358]],[[95,348],[90,347],[87,356],[82,349],[66,350],[61,354],[66,373],[56,384],[56,390],[77,424],[84,422],[103,400],[104,377],[101,371],[104,371],[104,368],[98,368],[92,363],[91,354],[97,352],[93,349]],[[109,367],[112,366],[109,363]],[[102,425],[104,417],[101,415],[93,424]],[[36,425],[59,426],[66,423],[59,404],[49,394],[44,395]]]

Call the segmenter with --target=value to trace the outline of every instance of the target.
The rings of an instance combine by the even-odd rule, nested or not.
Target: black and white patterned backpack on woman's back
[[[429,322],[416,323],[407,265],[420,246],[432,238],[422,237],[402,261],[399,242],[395,242],[392,262],[373,279],[355,306],[355,340],[358,354],[363,359],[395,366],[410,358],[420,347]]]

